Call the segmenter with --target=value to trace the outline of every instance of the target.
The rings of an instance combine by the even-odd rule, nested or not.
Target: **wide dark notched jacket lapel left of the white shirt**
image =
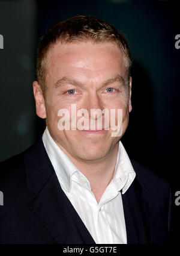
[[[27,186],[35,198],[29,210],[55,238],[57,243],[95,243],[76,210],[61,189],[43,141],[24,155]]]

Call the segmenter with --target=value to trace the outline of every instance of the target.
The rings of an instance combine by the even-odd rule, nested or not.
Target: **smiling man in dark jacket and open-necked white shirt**
[[[1,163],[1,243],[169,242],[169,184],[120,140],[130,66],[124,36],[95,17],[72,17],[41,39],[33,90],[47,127]]]

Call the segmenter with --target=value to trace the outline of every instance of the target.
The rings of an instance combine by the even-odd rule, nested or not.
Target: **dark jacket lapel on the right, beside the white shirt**
[[[135,178],[127,192],[122,195],[127,243],[130,244],[149,243],[141,195],[142,191],[137,178]]]

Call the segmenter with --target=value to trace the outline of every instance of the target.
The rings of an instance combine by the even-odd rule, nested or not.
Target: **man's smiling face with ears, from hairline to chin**
[[[46,99],[40,86],[34,82],[37,114],[46,118],[51,136],[70,157],[83,161],[106,158],[118,147],[118,141],[127,129],[131,111],[131,80],[129,94],[125,83],[124,58],[114,43],[56,43],[47,55]],[[76,111],[82,108],[88,111],[89,131],[78,127],[76,130],[59,130],[61,117],[58,111],[67,109],[71,117],[71,104],[76,104]],[[111,129],[90,130],[92,109],[107,109],[109,113],[114,109],[117,125],[118,108],[122,109],[121,136],[112,137]],[[96,116],[96,121],[99,117]],[[104,121],[104,116],[101,117]],[[80,118],[82,116],[77,120]],[[102,128],[106,127],[102,125]]]

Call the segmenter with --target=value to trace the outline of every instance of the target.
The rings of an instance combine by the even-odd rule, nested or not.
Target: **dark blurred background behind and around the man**
[[[179,2],[0,1],[0,161],[28,148],[44,130],[32,94],[38,40],[55,23],[88,14],[112,23],[127,37],[133,57],[133,111],[122,143],[130,157],[172,183],[175,200],[180,190]],[[174,211],[178,239],[180,205]]]

